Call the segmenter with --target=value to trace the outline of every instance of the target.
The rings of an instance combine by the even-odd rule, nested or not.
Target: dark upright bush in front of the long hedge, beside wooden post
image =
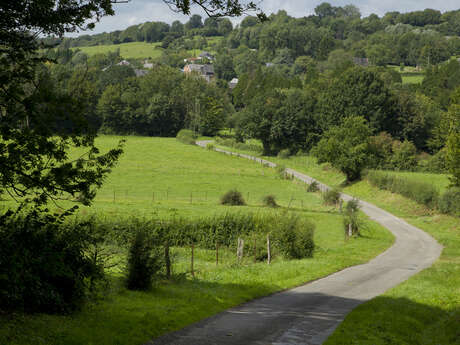
[[[148,290],[152,279],[162,268],[162,255],[152,238],[138,229],[129,248],[126,287],[130,290]]]

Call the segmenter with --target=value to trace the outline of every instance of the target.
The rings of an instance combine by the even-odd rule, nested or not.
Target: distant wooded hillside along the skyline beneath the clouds
[[[81,47],[161,42],[163,48],[177,50],[193,48],[187,38],[223,36],[221,48],[257,49],[257,59],[264,62],[293,63],[299,56],[321,61],[341,49],[353,57],[368,58],[378,66],[416,66],[437,64],[460,54],[459,35],[460,10],[388,12],[382,18],[375,14],[362,18],[353,5],[334,7],[323,3],[315,9],[315,15],[293,18],[279,11],[265,23],[246,17],[236,28],[227,18],[203,20],[194,15],[185,24],[146,22],[126,30],[59,39],[54,43]]]

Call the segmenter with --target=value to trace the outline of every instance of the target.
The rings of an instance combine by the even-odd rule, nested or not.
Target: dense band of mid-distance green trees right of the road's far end
[[[379,68],[338,66],[303,83],[260,69],[233,92],[237,138],[259,139],[269,155],[311,151],[349,180],[365,167],[415,170],[420,152],[433,155],[426,169],[455,176],[460,78],[448,71],[459,69],[456,60],[433,68],[418,87],[386,81]]]

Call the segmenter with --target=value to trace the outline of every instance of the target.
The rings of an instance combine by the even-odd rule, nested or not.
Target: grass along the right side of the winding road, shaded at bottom
[[[249,152],[248,152],[249,153]],[[254,153],[253,153],[254,154]],[[312,157],[279,159],[268,157],[331,186],[342,186],[345,177]],[[446,176],[396,173],[432,181],[445,187]],[[444,246],[440,259],[411,277],[353,310],[325,345],[460,344],[460,219],[441,215],[363,180],[343,189],[369,201],[426,231]]]

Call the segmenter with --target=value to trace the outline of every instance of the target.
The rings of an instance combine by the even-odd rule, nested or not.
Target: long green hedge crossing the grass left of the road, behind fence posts
[[[133,240],[138,229],[148,231],[159,244],[170,246],[195,246],[213,249],[219,246],[236,247],[238,237],[254,234],[270,234],[274,245],[287,257],[313,256],[315,225],[308,219],[283,211],[270,215],[229,213],[195,220],[173,218],[169,220],[100,220],[101,226],[113,229],[112,236],[120,245],[126,246]],[[292,234],[296,234],[292,237]],[[308,240],[306,240],[308,239]],[[289,250],[294,241],[309,248]],[[303,254],[297,254],[302,252]]]

